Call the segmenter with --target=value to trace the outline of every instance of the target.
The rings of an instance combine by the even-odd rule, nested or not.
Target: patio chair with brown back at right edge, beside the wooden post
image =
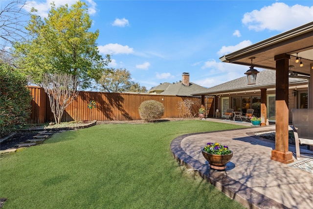
[[[313,146],[313,109],[291,109],[296,159],[300,158],[300,144]]]

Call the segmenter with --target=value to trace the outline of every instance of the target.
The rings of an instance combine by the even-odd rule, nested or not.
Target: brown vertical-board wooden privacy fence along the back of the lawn
[[[44,89],[28,87],[33,97],[29,123],[44,123],[54,121],[49,105],[49,98]],[[185,114],[180,111],[179,104],[186,99],[195,102],[192,112],[195,115],[201,106],[200,97],[187,97],[157,94],[130,94],[130,93],[103,93],[80,92],[78,97],[69,104],[64,111],[62,121],[83,120],[140,120],[138,108],[143,101],[156,100],[164,105],[165,111],[162,118],[178,118]],[[89,109],[90,100],[97,103],[95,109]],[[209,116],[213,116],[213,99],[208,107]],[[211,105],[212,104],[212,105]],[[212,109],[212,110],[211,110]],[[184,110],[183,110],[184,111]]]

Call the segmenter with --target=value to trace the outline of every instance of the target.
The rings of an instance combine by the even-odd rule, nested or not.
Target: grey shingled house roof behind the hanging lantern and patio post
[[[208,88],[204,91],[195,93],[193,95],[222,93],[222,92],[236,92],[245,90],[257,90],[261,88],[274,88],[276,83],[275,70],[263,70],[257,74],[256,84],[248,85],[246,76],[237,78],[232,81]],[[300,78],[289,78],[290,85],[307,84],[308,80]]]

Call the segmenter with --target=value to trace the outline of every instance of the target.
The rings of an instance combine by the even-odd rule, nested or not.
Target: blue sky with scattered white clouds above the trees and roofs
[[[51,0],[30,1],[42,17]],[[313,21],[312,0],[85,0],[109,67],[141,86],[181,80],[204,87],[244,76],[248,67],[219,58]],[[57,6],[75,0],[55,0]],[[259,69],[262,70],[262,69]]]

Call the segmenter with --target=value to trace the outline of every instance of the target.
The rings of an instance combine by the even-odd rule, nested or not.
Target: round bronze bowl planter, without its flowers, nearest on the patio
[[[233,157],[233,151],[231,151],[228,155],[215,155],[208,152],[205,152],[203,149],[202,155],[209,163],[209,166],[216,170],[225,170],[226,169],[226,163],[230,161],[230,159]]]

